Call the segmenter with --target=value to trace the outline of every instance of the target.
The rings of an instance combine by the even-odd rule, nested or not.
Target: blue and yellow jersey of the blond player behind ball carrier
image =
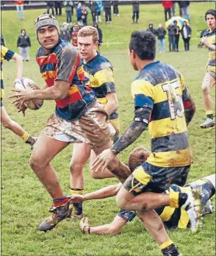
[[[116,93],[114,83],[113,66],[110,61],[104,58],[99,53],[95,58],[85,63],[84,61],[85,75],[90,79],[90,86],[103,107],[106,106],[106,94]],[[117,110],[110,115],[110,119],[116,119],[118,117]]]

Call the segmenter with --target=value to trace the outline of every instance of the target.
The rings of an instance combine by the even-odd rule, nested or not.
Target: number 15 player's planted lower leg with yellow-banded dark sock
[[[164,256],[179,256],[179,252],[172,240],[169,239],[168,234],[162,223],[162,219],[154,210],[137,211],[137,216],[141,219],[141,223],[148,230],[152,238],[155,240]]]

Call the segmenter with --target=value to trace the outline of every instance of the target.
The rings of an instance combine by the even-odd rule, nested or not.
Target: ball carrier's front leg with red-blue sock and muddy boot
[[[71,214],[68,198],[64,196],[57,174],[50,164],[54,156],[60,153],[66,146],[68,146],[68,142],[40,135],[30,157],[30,167],[51,195],[54,204],[54,207],[51,208],[53,214],[40,223],[39,230],[41,231],[52,230],[57,223],[62,219],[68,218]]]

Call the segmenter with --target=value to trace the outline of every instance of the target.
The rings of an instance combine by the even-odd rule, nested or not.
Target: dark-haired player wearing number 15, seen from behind
[[[159,215],[153,210],[162,204],[186,209],[191,230],[197,232],[200,221],[200,191],[172,191],[160,194],[171,184],[183,186],[193,162],[186,125],[195,113],[195,105],[183,76],[172,66],[155,61],[155,36],[148,31],[134,31],[129,44],[131,65],[139,71],[131,85],[134,97],[134,121],[111,149],[106,149],[93,162],[92,169],[103,171],[118,153],[130,146],[148,127],[152,153],[134,170],[117,193],[120,209],[136,211],[145,228],[159,244],[165,256],[179,252],[169,239]],[[148,125],[149,124],[149,125]],[[153,192],[153,193],[152,193]],[[191,205],[191,206],[192,206]],[[190,211],[191,210],[191,211]],[[194,219],[195,218],[195,219]]]

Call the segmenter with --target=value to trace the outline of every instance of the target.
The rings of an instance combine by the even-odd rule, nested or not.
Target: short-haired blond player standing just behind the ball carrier
[[[90,86],[96,94],[97,100],[103,104],[104,110],[109,115],[110,122],[115,128],[113,141],[116,142],[119,135],[118,100],[114,83],[113,66],[110,61],[96,51],[99,44],[99,34],[95,27],[84,26],[78,31],[78,51],[83,60],[85,75],[90,80]],[[91,156],[91,157],[90,157]],[[75,143],[70,163],[71,170],[71,194],[83,194],[84,179],[83,167],[89,160],[90,166],[96,154],[86,143]],[[103,173],[91,172],[93,178],[114,177],[109,170]],[[73,204],[72,216],[82,216],[82,203]]]

